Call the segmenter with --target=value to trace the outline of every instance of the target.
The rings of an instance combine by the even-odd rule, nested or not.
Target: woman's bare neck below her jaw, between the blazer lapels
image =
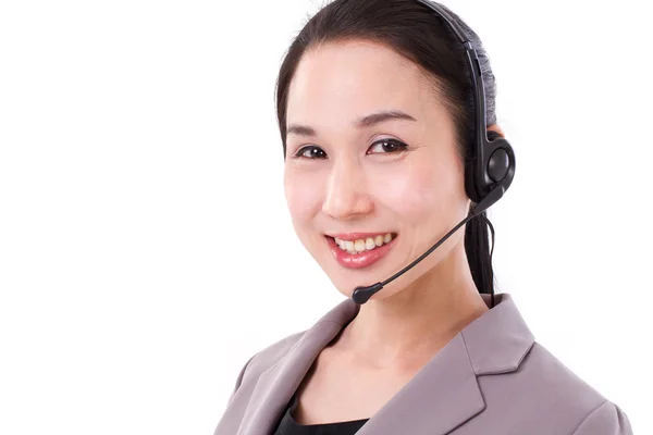
[[[362,304],[337,346],[370,369],[421,366],[488,309],[460,240],[409,287]]]

